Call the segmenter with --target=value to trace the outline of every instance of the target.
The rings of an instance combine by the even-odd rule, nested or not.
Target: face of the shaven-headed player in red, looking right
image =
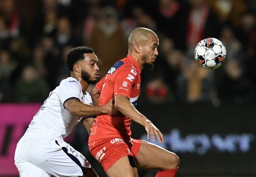
[[[153,70],[155,59],[158,56],[158,37],[154,34],[150,34],[147,43],[143,46],[142,60],[144,62],[143,67]]]

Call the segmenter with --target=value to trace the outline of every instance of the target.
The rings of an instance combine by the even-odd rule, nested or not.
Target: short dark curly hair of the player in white
[[[69,71],[73,71],[73,66],[77,61],[84,59],[84,53],[94,53],[94,51],[88,46],[79,46],[71,49],[69,53],[67,53],[66,66]]]

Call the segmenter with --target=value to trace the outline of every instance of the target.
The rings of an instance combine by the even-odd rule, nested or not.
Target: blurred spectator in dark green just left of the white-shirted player
[[[42,103],[49,92],[47,82],[39,77],[35,67],[30,65],[23,68],[22,75],[13,89],[13,100],[22,103]]]

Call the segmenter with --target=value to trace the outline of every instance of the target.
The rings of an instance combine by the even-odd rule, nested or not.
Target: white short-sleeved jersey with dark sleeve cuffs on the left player
[[[40,137],[60,140],[69,135],[81,120],[65,109],[64,104],[70,99],[93,104],[90,94],[83,93],[76,78],[68,77],[62,80],[61,84],[49,93],[20,141]]]

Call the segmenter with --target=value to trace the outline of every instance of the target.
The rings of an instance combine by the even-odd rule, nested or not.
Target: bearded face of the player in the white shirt
[[[81,78],[88,84],[95,84],[99,77],[99,60],[94,53],[84,53],[84,60],[80,63]]]

